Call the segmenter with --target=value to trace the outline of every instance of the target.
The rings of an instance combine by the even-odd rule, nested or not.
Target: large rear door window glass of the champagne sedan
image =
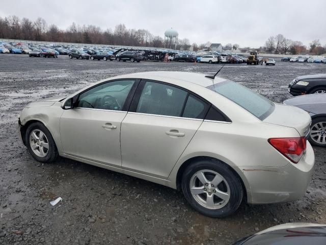
[[[146,82],[136,112],[181,116],[187,92],[162,83]]]

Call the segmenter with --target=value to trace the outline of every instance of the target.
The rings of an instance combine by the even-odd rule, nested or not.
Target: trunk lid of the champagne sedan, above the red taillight
[[[294,128],[303,137],[309,133],[311,117],[300,108],[275,104],[274,111],[263,121],[268,124]]]

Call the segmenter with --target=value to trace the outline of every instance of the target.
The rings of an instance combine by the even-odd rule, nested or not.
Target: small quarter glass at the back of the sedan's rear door
[[[204,119],[207,113],[208,104],[189,94],[185,104],[182,117]]]

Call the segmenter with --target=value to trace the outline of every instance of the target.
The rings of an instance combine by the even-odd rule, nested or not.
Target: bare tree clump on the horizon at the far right
[[[313,54],[322,55],[326,53],[326,44],[321,46],[319,39],[313,40],[309,46],[301,41],[293,41],[285,38],[282,34],[270,36],[263,47],[268,54]]]

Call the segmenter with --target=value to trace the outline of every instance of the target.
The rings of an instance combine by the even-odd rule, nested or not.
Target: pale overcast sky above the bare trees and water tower
[[[325,10],[325,0],[11,0],[3,1],[0,16],[42,17],[61,29],[75,22],[114,30],[124,23],[161,37],[173,28],[191,43],[258,47],[279,33],[305,45],[326,44]]]

